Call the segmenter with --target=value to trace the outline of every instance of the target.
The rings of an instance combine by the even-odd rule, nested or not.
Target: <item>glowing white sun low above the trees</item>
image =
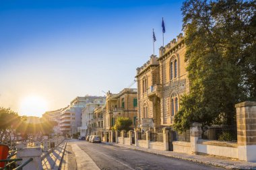
[[[47,110],[46,100],[40,96],[30,95],[20,102],[20,114],[22,116],[41,117]]]

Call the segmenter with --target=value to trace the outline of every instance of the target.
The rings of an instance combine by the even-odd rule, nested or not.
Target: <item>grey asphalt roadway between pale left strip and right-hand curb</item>
[[[77,144],[100,169],[222,169],[191,161],[184,161],[152,153],[135,151],[130,148],[108,144],[92,144],[84,140],[73,140],[69,144]]]

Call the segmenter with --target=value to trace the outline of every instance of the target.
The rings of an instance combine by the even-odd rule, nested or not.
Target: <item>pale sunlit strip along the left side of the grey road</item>
[[[71,144],[73,153],[75,154],[75,159],[77,163],[77,170],[100,170],[100,168],[92,161],[90,156],[84,152],[77,144]]]

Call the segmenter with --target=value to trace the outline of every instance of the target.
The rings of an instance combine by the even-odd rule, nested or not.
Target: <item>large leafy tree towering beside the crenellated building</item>
[[[190,89],[174,128],[234,124],[234,104],[256,97],[255,1],[187,0],[181,10]]]

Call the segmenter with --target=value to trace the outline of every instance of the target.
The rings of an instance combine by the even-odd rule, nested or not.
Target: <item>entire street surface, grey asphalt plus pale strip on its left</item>
[[[66,152],[61,169],[222,169],[85,140],[70,140]]]

